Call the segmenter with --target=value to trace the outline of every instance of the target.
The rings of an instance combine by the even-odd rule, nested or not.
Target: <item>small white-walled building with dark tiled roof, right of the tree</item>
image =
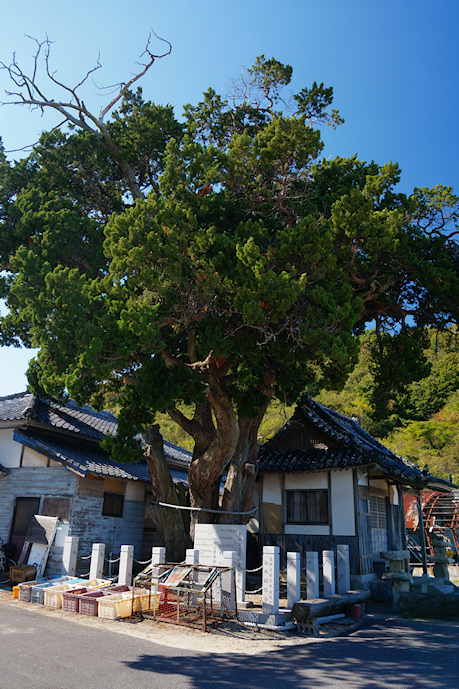
[[[405,492],[451,491],[448,481],[395,455],[356,419],[303,395],[293,416],[260,447],[260,546],[288,551],[349,545],[352,584],[375,578],[380,552],[406,548]],[[305,560],[303,560],[303,565]]]

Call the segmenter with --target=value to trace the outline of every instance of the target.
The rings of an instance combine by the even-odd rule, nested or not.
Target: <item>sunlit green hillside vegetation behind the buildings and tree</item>
[[[459,481],[459,341],[456,329],[426,331],[423,357],[414,362],[428,373],[415,383],[375,381],[374,358],[380,354],[374,331],[361,337],[359,361],[342,390],[308,392],[318,402],[346,415],[397,454],[432,473]],[[184,408],[190,412],[190,409]],[[294,406],[274,402],[260,426],[260,444],[292,415]],[[193,441],[167,414],[158,414],[161,432],[170,442],[192,449]]]

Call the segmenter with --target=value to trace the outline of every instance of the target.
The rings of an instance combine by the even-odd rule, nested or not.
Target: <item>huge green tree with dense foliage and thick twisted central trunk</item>
[[[343,383],[368,323],[383,388],[422,377],[425,326],[457,317],[452,190],[405,195],[395,163],[322,159],[333,91],[289,108],[291,74],[261,56],[182,122],[127,90],[108,139],[73,123],[0,160],[3,342],[40,348],[37,391],[117,400],[117,459],[167,411],[193,438],[201,508],[222,479],[225,511],[252,508],[270,401]]]

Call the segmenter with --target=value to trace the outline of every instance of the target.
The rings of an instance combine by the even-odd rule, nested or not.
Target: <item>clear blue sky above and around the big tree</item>
[[[293,93],[314,80],[334,87],[345,124],[325,129],[326,156],[398,161],[402,191],[447,184],[459,192],[458,0],[17,0],[2,8],[0,61],[15,52],[31,64],[25,35],[47,34],[59,79],[78,83],[100,53],[96,82],[110,85],[135,71],[150,28],[172,53],[142,81],[144,96],[172,104],[177,116],[264,54],[292,65]],[[0,72],[0,100],[9,88]],[[92,82],[84,99],[96,112],[106,102]],[[7,151],[57,123],[51,114],[0,108]],[[0,396],[25,389],[29,357],[0,349]]]

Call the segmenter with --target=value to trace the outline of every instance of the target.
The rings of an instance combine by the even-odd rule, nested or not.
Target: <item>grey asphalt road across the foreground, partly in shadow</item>
[[[142,623],[145,624],[145,623]],[[0,608],[0,689],[458,689],[459,625],[369,620],[257,655],[185,651]]]

